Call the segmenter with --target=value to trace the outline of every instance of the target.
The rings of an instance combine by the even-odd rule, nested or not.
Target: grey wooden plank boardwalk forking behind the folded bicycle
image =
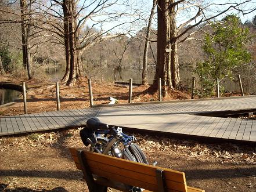
[[[255,101],[256,96],[225,97],[16,115],[0,118],[0,136],[84,126],[88,118],[99,117],[107,124],[132,129],[256,142],[255,120],[205,116],[207,113],[222,114],[223,111],[256,112]]]

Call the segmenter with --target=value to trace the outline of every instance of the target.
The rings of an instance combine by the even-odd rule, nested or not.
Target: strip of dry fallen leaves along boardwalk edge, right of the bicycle
[[[178,155],[194,158],[198,161],[218,161],[221,164],[233,162],[239,164],[256,164],[256,148],[239,146],[232,143],[200,144],[192,140],[176,140],[168,137],[152,137],[136,135],[142,150],[153,152],[156,150],[172,151]],[[243,153],[241,153],[243,151]]]

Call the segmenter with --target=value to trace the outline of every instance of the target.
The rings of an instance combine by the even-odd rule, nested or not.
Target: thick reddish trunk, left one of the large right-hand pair
[[[157,79],[162,79],[163,96],[167,96],[168,88],[173,88],[171,81],[171,26],[168,0],[158,0],[157,7],[157,67],[153,89],[157,89]]]

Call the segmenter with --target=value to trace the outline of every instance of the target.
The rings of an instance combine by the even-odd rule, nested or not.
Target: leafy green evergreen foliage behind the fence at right
[[[201,84],[199,96],[213,93],[213,79],[233,77],[237,67],[251,61],[251,53],[246,46],[250,39],[249,29],[243,28],[235,15],[226,16],[214,25],[213,34],[207,34],[204,39],[206,58],[203,63],[197,63],[195,70]]]

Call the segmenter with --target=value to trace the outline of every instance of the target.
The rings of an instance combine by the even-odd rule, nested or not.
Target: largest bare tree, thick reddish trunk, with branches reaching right
[[[204,2],[197,0],[158,0],[157,1],[157,68],[155,79],[162,78],[164,91],[167,95],[168,88],[177,88],[180,82],[178,63],[178,44],[193,39],[196,31],[190,32],[197,27],[200,31],[224,13],[236,11],[242,14],[253,12],[255,7],[243,8],[250,0],[237,3]],[[179,24],[177,26],[178,18]],[[185,21],[184,21],[185,20]],[[190,33],[189,33],[190,32]],[[157,81],[152,86],[156,90]]]

